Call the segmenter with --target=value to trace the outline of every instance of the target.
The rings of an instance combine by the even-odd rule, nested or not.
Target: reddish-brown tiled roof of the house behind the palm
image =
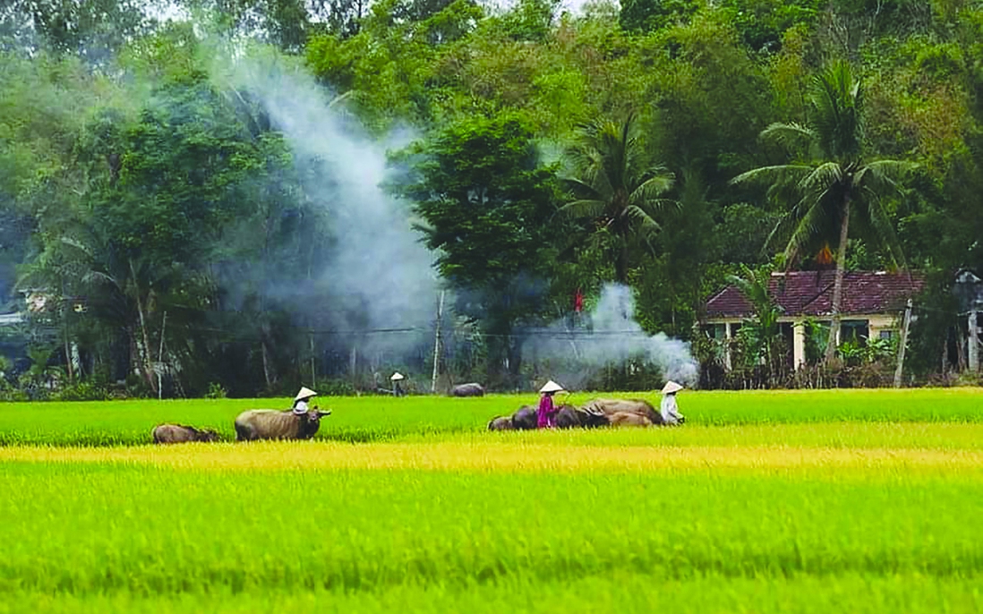
[[[790,271],[772,273],[768,293],[785,315],[829,315],[833,304],[836,271]],[[852,271],[843,275],[840,313],[883,313],[904,307],[904,301],[925,284],[918,272]],[[707,301],[707,317],[747,317],[754,313],[750,303],[734,286],[728,286]]]

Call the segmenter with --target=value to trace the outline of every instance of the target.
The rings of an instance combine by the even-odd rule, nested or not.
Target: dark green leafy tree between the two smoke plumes
[[[426,221],[427,246],[458,291],[458,311],[482,324],[492,380],[514,379],[521,365],[515,327],[547,308],[555,168],[540,163],[516,114],[461,120],[414,145],[414,154],[421,157],[412,183],[400,192]]]

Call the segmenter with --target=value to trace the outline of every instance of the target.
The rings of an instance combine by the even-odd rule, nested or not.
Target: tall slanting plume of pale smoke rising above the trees
[[[332,250],[316,284],[327,289],[329,301],[298,307],[320,309],[363,355],[399,360],[430,337],[437,282],[434,257],[411,227],[408,203],[382,187],[383,145],[346,118],[343,105],[332,104],[307,70],[285,58],[241,58],[232,75],[260,101],[298,162],[317,169],[304,179],[305,190],[328,203]]]

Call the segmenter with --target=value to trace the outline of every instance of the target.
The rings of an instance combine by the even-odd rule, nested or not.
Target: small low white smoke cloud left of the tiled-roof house
[[[611,364],[652,364],[665,379],[693,384],[699,366],[685,342],[664,333],[649,335],[635,321],[630,288],[607,284],[601,300],[582,319],[555,322],[530,331],[523,359],[549,369],[549,377],[569,389],[580,389]]]

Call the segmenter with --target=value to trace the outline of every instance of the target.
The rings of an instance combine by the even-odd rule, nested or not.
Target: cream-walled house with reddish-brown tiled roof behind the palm
[[[829,323],[832,317],[836,271],[772,273],[768,292],[781,308],[781,334],[792,349],[790,362],[805,363],[806,319]],[[885,339],[898,334],[905,303],[924,286],[920,273],[906,271],[851,271],[843,275],[839,341],[856,336]],[[721,340],[732,338],[754,309],[734,286],[717,293],[706,304],[708,333]]]

